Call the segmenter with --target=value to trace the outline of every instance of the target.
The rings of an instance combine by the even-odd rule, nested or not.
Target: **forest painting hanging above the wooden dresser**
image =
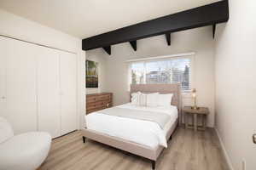
[[[87,60],[86,67],[86,88],[98,88],[98,63],[95,61]]]

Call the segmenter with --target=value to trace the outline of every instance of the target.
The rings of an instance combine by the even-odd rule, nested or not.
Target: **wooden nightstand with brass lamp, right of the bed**
[[[191,109],[191,106],[184,106],[183,107],[183,113],[184,113],[184,120],[185,120],[185,126],[186,128],[194,128],[195,131],[197,131],[197,128],[200,130],[206,129],[207,124],[207,115],[209,114],[209,109],[207,107],[200,107],[198,110]],[[194,117],[194,125],[189,125],[189,120],[187,116],[193,116]],[[197,115],[201,116],[201,126],[197,125]]]

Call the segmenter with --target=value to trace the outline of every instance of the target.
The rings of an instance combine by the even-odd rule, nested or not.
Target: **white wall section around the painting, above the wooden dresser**
[[[99,50],[99,49],[97,49]],[[86,52],[87,58],[92,61],[96,61],[98,63],[98,78],[99,84],[98,88],[86,88],[86,94],[96,94],[101,93],[106,90],[106,81],[107,81],[107,74],[106,74],[106,56],[99,56],[94,53],[94,51]]]

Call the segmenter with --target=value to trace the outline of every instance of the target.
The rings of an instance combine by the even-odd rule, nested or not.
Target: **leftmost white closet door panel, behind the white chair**
[[[37,130],[37,46],[2,38],[1,55],[6,66],[6,110],[2,113],[15,133]],[[3,45],[3,46],[2,46]],[[2,115],[1,115],[2,116]]]

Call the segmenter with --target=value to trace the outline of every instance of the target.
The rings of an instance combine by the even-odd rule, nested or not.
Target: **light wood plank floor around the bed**
[[[151,163],[104,144],[86,140],[79,131],[53,141],[49,156],[39,170],[151,170]],[[178,127],[168,149],[156,162],[157,170],[226,170],[228,169],[213,129],[194,132]]]

